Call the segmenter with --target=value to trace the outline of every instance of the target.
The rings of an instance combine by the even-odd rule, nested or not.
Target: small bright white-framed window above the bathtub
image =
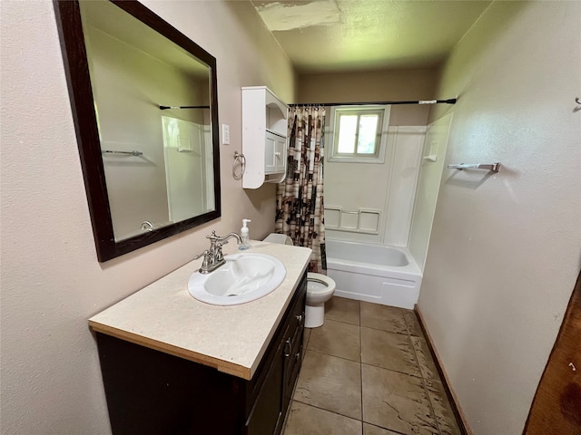
[[[351,106],[334,111],[333,147],[330,160],[381,163],[383,125],[389,106]]]

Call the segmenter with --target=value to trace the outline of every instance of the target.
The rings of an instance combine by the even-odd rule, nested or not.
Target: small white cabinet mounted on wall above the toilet
[[[242,88],[242,188],[258,189],[285,178],[288,110],[266,86]]]

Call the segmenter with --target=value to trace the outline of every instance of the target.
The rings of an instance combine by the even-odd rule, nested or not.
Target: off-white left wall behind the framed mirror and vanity
[[[107,263],[97,262],[52,2],[2,2],[1,429],[110,432],[87,319],[202,252],[211,229],[274,228],[274,187],[231,178],[241,151],[241,86],[294,96],[291,64],[246,2],[146,1],[217,58],[222,218]],[[260,228],[260,229],[259,229]]]

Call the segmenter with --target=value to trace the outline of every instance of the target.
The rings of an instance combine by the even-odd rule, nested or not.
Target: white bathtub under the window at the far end
[[[418,302],[421,273],[406,248],[330,239],[325,247],[335,295],[408,309]]]

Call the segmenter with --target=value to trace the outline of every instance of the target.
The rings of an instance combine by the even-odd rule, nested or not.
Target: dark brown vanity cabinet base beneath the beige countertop
[[[306,277],[250,381],[96,333],[113,434],[280,434],[302,362]]]

